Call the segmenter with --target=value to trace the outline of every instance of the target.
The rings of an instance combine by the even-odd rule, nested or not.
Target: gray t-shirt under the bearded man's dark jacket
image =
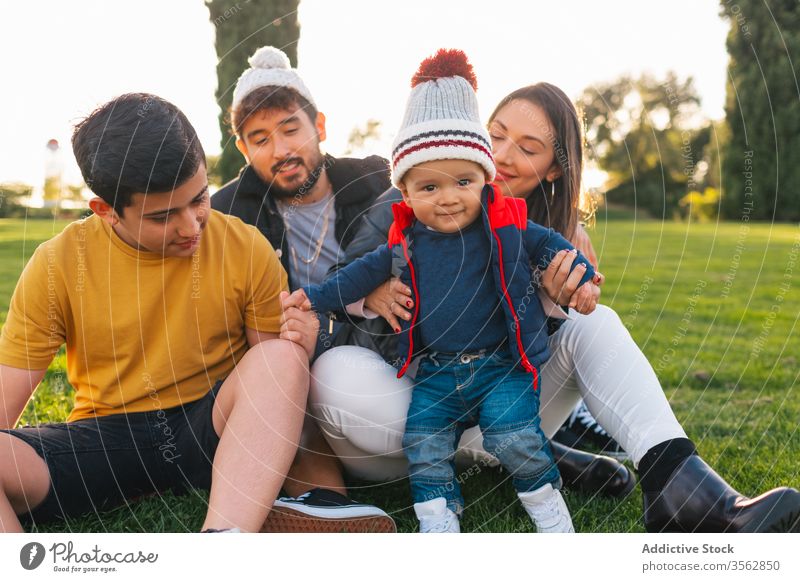
[[[286,225],[289,265],[295,285],[319,285],[328,270],[340,260],[336,241],[336,208],[333,192],[312,204],[279,200],[278,211]],[[322,237],[322,247],[317,248]]]

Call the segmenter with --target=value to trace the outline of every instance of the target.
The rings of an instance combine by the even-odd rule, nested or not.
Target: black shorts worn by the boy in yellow
[[[209,489],[221,386],[174,408],[2,430],[33,447],[50,471],[47,497],[20,517],[44,523],[153,493]]]

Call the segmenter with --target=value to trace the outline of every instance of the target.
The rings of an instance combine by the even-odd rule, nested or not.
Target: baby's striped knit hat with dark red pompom
[[[494,180],[492,146],[478,115],[478,82],[467,55],[439,49],[422,61],[411,87],[392,144],[392,183],[399,187],[408,170],[434,160],[469,160]]]

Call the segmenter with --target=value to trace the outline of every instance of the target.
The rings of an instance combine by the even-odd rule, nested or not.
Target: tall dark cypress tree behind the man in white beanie
[[[248,68],[247,59],[256,49],[272,45],[297,66],[298,0],[207,0],[211,22],[216,28],[217,91],[221,113],[222,154],[216,166],[222,183],[233,179],[243,164],[242,155],[231,138],[228,114],[233,89]]]

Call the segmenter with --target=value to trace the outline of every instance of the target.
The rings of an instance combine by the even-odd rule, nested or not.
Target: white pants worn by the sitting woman
[[[552,437],[582,397],[600,425],[638,465],[668,439],[686,438],[653,368],[616,312],[598,305],[575,314],[549,338],[550,359],[539,371],[541,422]],[[323,354],[311,370],[310,412],[351,475],[388,481],[407,474],[402,439],[413,381],[376,353],[344,346]],[[478,427],[459,445],[486,455]]]

